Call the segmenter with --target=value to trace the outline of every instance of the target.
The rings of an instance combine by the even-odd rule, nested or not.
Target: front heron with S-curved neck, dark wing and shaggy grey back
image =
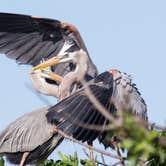
[[[61,103],[58,103],[49,108],[47,117],[50,123],[56,124],[56,126],[65,131],[66,134],[72,135],[74,138],[81,141],[93,142],[99,135],[97,136],[96,132],[93,134],[91,130],[83,129],[78,124],[86,124],[87,126],[90,124],[104,125],[106,123],[106,118],[104,118],[101,113],[100,115],[97,114],[98,111],[86,98],[85,92],[82,93],[82,97],[78,95],[77,91],[74,92],[75,98],[73,98],[73,105],[70,103],[70,106],[68,105],[69,102],[67,102],[67,100],[65,104],[64,97],[65,95],[68,96],[68,94],[71,94],[70,88],[74,82],[82,83],[84,80],[88,68],[86,65],[86,63],[88,63],[86,52],[80,49],[74,53],[66,53],[54,57],[51,60],[36,66],[34,70],[42,70],[50,65],[56,65],[67,61],[72,61],[76,65],[76,68],[74,71],[69,72],[64,76],[61,83],[61,95],[62,99],[64,99],[63,109],[61,108]],[[108,112],[113,114],[120,110],[129,110],[132,114],[139,116],[141,119],[145,121],[148,120],[147,105],[141,97],[136,85],[132,82],[130,75],[117,69],[111,69],[94,78],[90,78],[87,81],[87,84],[88,86],[93,87],[92,94],[99,100],[101,105],[108,109]],[[85,89],[86,84],[81,87]],[[103,89],[101,89],[101,87]],[[63,96],[63,94],[65,95]],[[60,107],[60,111],[56,111],[57,107]],[[88,134],[85,134],[85,131]],[[106,146],[104,140],[103,144]]]

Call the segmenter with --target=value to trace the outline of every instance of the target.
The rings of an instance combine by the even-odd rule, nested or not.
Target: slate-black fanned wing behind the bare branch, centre
[[[97,85],[90,85],[90,89],[97,100],[107,109],[111,90]],[[74,93],[49,108],[48,111],[46,115],[48,122],[82,141],[91,142],[101,133],[95,129],[88,129],[88,125],[103,125],[106,121],[90,102],[84,90]]]

